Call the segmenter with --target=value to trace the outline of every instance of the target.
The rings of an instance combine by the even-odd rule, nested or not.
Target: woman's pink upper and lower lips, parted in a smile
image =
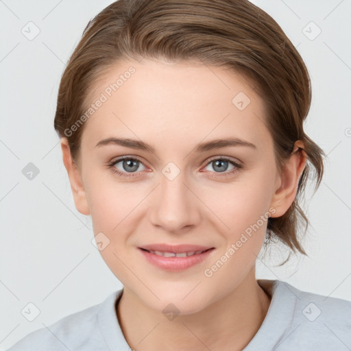
[[[145,250],[143,250],[145,249]],[[189,251],[200,251],[206,250],[201,254],[194,254],[193,256],[186,256],[186,257],[164,257],[158,256],[157,254],[152,254],[147,252],[146,250],[155,250],[155,251],[162,251],[162,252],[189,252]],[[152,244],[152,245],[145,245],[143,247],[138,247],[138,251],[143,254],[143,256],[147,259],[149,263],[152,265],[164,269],[166,271],[184,271],[202,263],[215,251],[215,247],[205,247],[199,245],[167,245],[167,244]]]

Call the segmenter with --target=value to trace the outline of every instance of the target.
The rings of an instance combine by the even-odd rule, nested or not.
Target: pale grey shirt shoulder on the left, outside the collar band
[[[66,351],[105,350],[104,338],[99,329],[99,310],[117,298],[112,293],[104,302],[68,315],[58,322],[31,332],[8,351]]]

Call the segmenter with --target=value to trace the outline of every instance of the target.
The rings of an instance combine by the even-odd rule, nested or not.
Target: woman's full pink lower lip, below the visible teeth
[[[202,252],[202,254],[195,254],[193,256],[186,257],[165,257],[151,254],[146,250],[142,250],[138,247],[138,250],[145,256],[147,261],[152,263],[158,268],[165,269],[167,271],[183,271],[198,263],[202,263],[206,258],[215,250],[214,248]]]

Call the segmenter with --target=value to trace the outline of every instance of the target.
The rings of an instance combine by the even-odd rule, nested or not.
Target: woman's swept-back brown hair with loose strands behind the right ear
[[[279,239],[293,252],[306,255],[297,232],[304,222],[306,233],[308,219],[298,203],[311,173],[308,163],[316,171],[316,191],[325,154],[304,133],[311,82],[300,54],[278,23],[247,0],[119,0],[108,5],[84,29],[60,82],[54,127],[68,139],[77,165],[84,124],[69,135],[65,130],[84,114],[89,89],[119,60],[143,57],[197,60],[242,73],[253,82],[265,102],[280,171],[294,142],[304,143],[307,162],[297,195],[285,215],[269,218],[265,244]]]

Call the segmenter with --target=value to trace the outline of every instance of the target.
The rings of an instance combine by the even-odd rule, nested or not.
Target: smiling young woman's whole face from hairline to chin
[[[125,289],[156,311],[169,303],[200,311],[252,271],[268,211],[286,210],[275,202],[280,176],[263,101],[239,75],[200,64],[129,61],[105,78],[89,100],[102,103],[82,134],[86,210],[77,208],[90,213]],[[142,250],[158,244],[199,246],[180,247],[180,256],[211,250],[192,258]]]

